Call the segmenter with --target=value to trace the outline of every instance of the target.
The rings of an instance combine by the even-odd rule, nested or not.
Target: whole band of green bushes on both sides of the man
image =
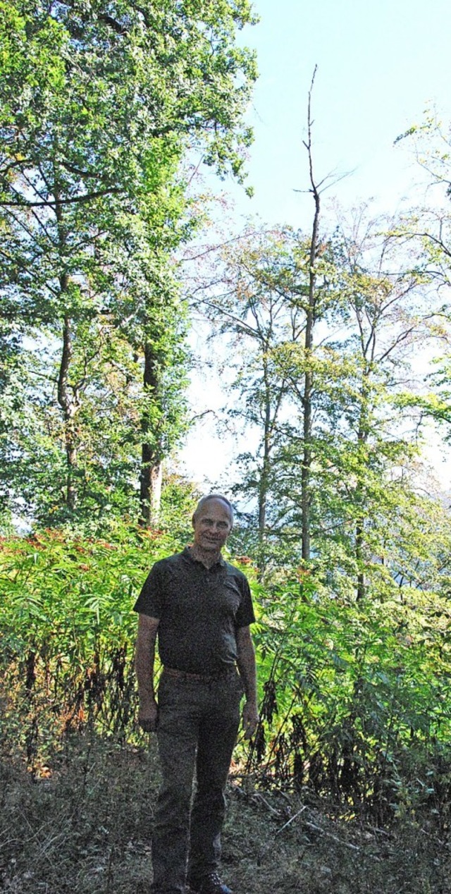
[[[3,747],[42,772],[69,734],[137,735],[133,603],[177,537],[119,527],[112,542],[46,530],[4,539]],[[327,795],[378,822],[426,807],[447,823],[447,599],[413,588],[357,602],[301,571],[254,592],[261,715],[239,757],[263,784]]]

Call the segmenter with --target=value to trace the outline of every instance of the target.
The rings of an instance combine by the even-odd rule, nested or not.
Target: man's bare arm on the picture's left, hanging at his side
[[[155,732],[158,706],[154,689],[154,663],[156,631],[160,620],[138,615],[138,639],[135,670],[139,692],[139,726],[145,732]]]

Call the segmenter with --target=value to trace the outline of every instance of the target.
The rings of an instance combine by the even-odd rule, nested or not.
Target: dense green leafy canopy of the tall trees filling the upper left
[[[102,511],[105,492],[126,508],[139,473],[148,520],[183,426],[189,169],[245,176],[251,8],[18,3],[2,21],[5,500],[42,520]]]

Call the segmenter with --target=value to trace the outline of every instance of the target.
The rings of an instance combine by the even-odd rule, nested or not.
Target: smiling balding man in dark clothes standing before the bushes
[[[203,497],[192,522],[193,545],[155,562],[135,605],[139,724],[156,730],[163,773],[151,890],[231,894],[218,875],[224,788],[243,689],[246,738],[258,722],[249,630],[255,616],[244,574],[221,557],[233,525],[230,502],[218,493]],[[158,700],[157,636],[163,664]]]

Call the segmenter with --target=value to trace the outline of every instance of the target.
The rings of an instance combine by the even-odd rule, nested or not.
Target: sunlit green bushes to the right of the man
[[[424,804],[447,812],[449,604],[397,592],[351,602],[301,573],[264,597],[262,724],[247,765],[266,784],[294,782],[381,822]]]

